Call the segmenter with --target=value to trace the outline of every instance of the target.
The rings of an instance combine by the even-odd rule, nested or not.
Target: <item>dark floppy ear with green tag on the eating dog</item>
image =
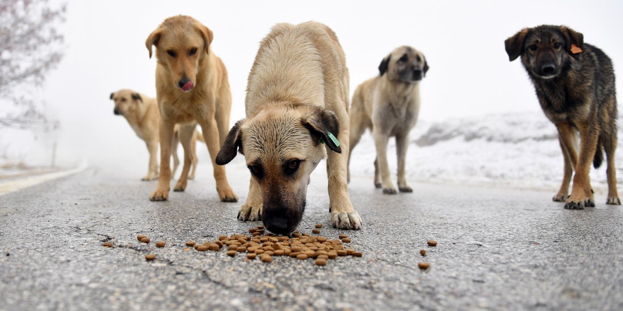
[[[318,108],[317,113],[303,119],[302,123],[305,128],[310,130],[312,136],[322,139],[329,149],[338,152],[338,154],[342,153],[340,142],[337,139],[340,132],[340,121],[335,113]]]

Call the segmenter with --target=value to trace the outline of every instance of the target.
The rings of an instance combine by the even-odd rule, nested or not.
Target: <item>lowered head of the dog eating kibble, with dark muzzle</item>
[[[303,217],[310,174],[325,158],[326,147],[341,152],[331,137],[339,131],[335,114],[316,106],[264,109],[234,125],[216,164],[229,163],[236,151],[243,154],[261,189],[264,226],[273,233],[292,233]]]

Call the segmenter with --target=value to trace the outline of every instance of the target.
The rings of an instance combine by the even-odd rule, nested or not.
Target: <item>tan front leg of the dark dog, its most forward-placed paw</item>
[[[581,147],[576,164],[576,175],[573,177],[573,187],[571,196],[564,205],[570,210],[583,210],[584,207],[594,207],[591,180],[589,172],[591,170],[592,159],[597,149],[597,139],[599,137],[599,124],[590,120],[588,124],[578,124],[581,137]]]

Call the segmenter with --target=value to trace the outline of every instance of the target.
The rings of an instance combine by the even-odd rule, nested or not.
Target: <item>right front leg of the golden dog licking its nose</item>
[[[206,141],[207,151],[212,159],[212,169],[214,170],[214,179],[216,180],[216,191],[219,193],[219,197],[222,202],[237,202],[238,196],[235,195],[234,190],[229,187],[227,182],[227,175],[224,165],[216,165],[216,155],[221,149],[221,141],[219,138],[219,129],[216,126],[216,120],[214,114],[201,121],[201,131]]]

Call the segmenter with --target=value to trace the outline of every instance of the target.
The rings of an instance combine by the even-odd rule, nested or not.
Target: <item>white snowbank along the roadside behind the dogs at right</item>
[[[619,146],[623,131],[619,128]],[[369,132],[355,147],[351,176],[374,177],[376,150]],[[396,144],[388,147],[389,168],[396,182]],[[623,152],[616,152],[617,180],[623,176]],[[543,113],[492,114],[478,118],[421,121],[411,131],[407,179],[467,183],[556,192],[563,178],[563,156],[554,124]],[[591,183],[605,193],[606,162],[591,167]],[[372,181],[371,181],[372,184]],[[621,187],[621,186],[619,186]],[[554,193],[552,193],[554,194]]]

